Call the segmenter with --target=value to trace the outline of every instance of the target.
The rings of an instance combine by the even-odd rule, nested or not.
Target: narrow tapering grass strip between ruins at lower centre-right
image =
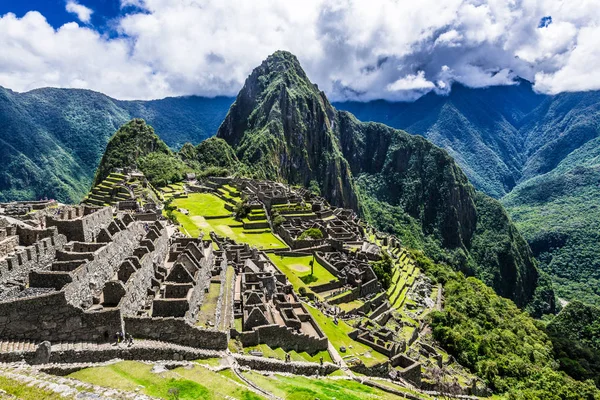
[[[375,365],[380,362],[387,361],[387,357],[381,353],[376,352],[369,346],[359,343],[348,336],[348,333],[354,330],[353,327],[348,325],[346,322],[339,320],[338,324],[334,324],[333,320],[324,315],[321,311],[316,308],[306,305],[306,309],[313,316],[317,324],[321,327],[321,330],[325,333],[333,347],[338,350],[342,357],[354,356],[362,360],[365,365]],[[342,353],[340,347],[346,347],[346,352]]]

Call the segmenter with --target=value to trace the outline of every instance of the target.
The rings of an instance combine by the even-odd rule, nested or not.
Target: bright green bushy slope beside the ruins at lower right
[[[417,265],[444,283],[444,310],[429,314],[433,336],[493,390],[514,399],[594,399],[591,381],[557,371],[552,343],[540,322],[480,280],[434,264]]]

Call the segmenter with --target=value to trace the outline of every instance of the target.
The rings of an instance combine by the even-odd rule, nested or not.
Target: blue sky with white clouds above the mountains
[[[0,0],[0,86],[235,96],[276,50],[334,101],[600,89],[600,0]]]

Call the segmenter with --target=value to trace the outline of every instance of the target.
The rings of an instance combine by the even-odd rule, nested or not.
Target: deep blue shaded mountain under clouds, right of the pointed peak
[[[483,89],[455,84],[447,96],[429,93],[411,103],[379,100],[335,106],[361,121],[426,137],[450,153],[475,187],[499,198],[521,179],[526,138],[520,126],[546,97],[519,81]]]

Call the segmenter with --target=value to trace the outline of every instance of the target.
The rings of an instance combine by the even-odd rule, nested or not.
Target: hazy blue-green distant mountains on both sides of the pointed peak
[[[45,196],[78,201],[92,184],[108,139],[128,120],[145,119],[178,150],[213,136],[234,100],[118,101],[87,90],[15,93],[0,88],[0,201]],[[501,199],[542,269],[559,283],[558,293],[600,304],[594,228],[600,222],[600,92],[541,95],[526,81],[485,89],[455,84],[448,96],[430,93],[412,103],[333,106],[361,121],[422,135],[446,149],[476,188]],[[301,118],[311,107],[306,104],[291,117]],[[262,151],[249,141],[245,146],[245,154]],[[339,196],[348,194],[342,187],[335,190]]]

